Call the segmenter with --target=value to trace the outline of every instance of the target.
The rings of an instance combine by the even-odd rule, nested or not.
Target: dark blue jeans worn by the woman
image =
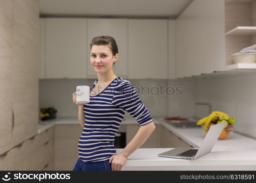
[[[111,171],[111,163],[109,160],[96,161],[93,163],[82,163],[81,160],[77,160],[73,171]]]

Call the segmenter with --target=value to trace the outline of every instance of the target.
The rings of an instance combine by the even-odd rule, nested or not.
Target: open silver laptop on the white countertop
[[[226,123],[227,122],[222,122],[212,125],[199,148],[176,147],[175,149],[163,152],[157,156],[195,160],[196,158],[211,152]]]

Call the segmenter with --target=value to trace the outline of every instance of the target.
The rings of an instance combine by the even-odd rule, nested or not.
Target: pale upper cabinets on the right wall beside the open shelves
[[[177,78],[224,69],[224,2],[194,0],[177,18]]]

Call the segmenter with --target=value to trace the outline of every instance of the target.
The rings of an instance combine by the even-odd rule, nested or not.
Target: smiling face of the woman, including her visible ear
[[[117,60],[117,57],[112,55],[112,51],[107,45],[93,45],[90,62],[97,73],[105,73],[112,70],[113,63]]]

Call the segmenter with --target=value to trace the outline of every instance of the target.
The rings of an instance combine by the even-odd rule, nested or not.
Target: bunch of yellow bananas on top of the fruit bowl
[[[234,125],[234,123],[235,123],[234,117],[229,116],[226,113],[221,112],[221,111],[212,111],[212,113],[209,116],[198,120],[198,122],[196,124],[197,125],[204,124],[204,128],[206,129],[206,128],[208,128],[208,125],[212,122],[212,120],[217,120],[217,119],[218,119],[217,123],[228,122],[232,125]],[[228,123],[225,125],[224,128],[227,127]]]

